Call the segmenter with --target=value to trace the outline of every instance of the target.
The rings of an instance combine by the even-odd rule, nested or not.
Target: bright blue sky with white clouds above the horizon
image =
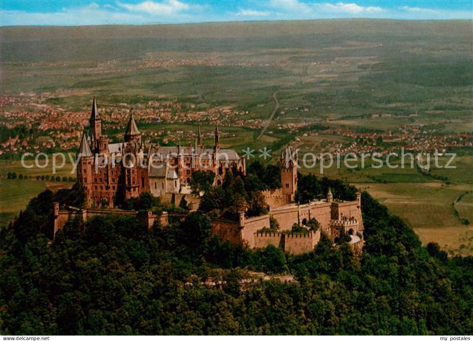
[[[472,19],[473,0],[1,0],[0,25],[101,25],[371,17]]]

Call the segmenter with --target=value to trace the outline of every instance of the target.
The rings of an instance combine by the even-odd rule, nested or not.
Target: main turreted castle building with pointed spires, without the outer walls
[[[215,144],[206,148],[199,127],[194,146],[162,147],[142,141],[133,114],[130,114],[123,142],[109,143],[102,134],[96,100],[92,103],[90,127],[84,131],[77,154],[77,179],[85,192],[85,206],[113,208],[142,192],[154,196],[190,192],[192,174],[209,171],[214,185],[221,185],[233,167],[246,172],[245,158],[233,149],[220,148],[219,127]]]

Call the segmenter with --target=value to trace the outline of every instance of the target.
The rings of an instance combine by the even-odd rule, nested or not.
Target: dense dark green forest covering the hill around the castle
[[[302,201],[327,186],[353,194],[314,176],[299,184]],[[73,219],[51,241],[53,201],[76,195],[45,191],[0,232],[0,334],[473,332],[473,259],[421,246],[366,193],[360,256],[325,237],[302,256],[246,250],[212,237],[202,211],[151,229],[134,217]],[[292,273],[297,282],[242,286],[243,269]],[[202,285],[208,277],[222,288]]]

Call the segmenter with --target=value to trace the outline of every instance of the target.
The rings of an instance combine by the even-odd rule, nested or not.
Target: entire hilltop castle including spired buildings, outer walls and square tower
[[[77,215],[86,220],[108,213],[131,214],[142,219],[148,227],[155,221],[167,226],[166,212],[155,214],[119,210],[116,206],[138,197],[142,192],[151,192],[158,197],[189,194],[192,174],[196,171],[211,172],[214,186],[222,185],[225,175],[232,169],[246,173],[245,158],[233,149],[220,148],[218,126],[215,127],[213,148],[203,145],[200,127],[194,146],[182,147],[179,143],[177,147],[163,147],[143,142],[142,134],[130,114],[123,142],[109,143],[107,136],[102,134],[95,98],[89,122],[90,129],[82,134],[77,155],[77,178],[84,188],[85,207],[61,209],[59,203],[54,203],[54,234],[68,219]],[[212,233],[233,244],[249,248],[274,245],[290,254],[312,252],[322,233],[335,241],[343,232],[350,237],[350,245],[359,249],[363,247],[364,227],[359,192],[355,200],[343,201],[334,199],[329,189],[324,200],[299,204],[296,202],[297,150],[290,147],[282,150],[280,169],[281,187],[263,191],[267,214],[248,218],[242,211],[238,221],[212,219]],[[271,229],[271,221],[278,223],[278,231]],[[303,232],[291,232],[294,224],[298,225],[298,231]]]

